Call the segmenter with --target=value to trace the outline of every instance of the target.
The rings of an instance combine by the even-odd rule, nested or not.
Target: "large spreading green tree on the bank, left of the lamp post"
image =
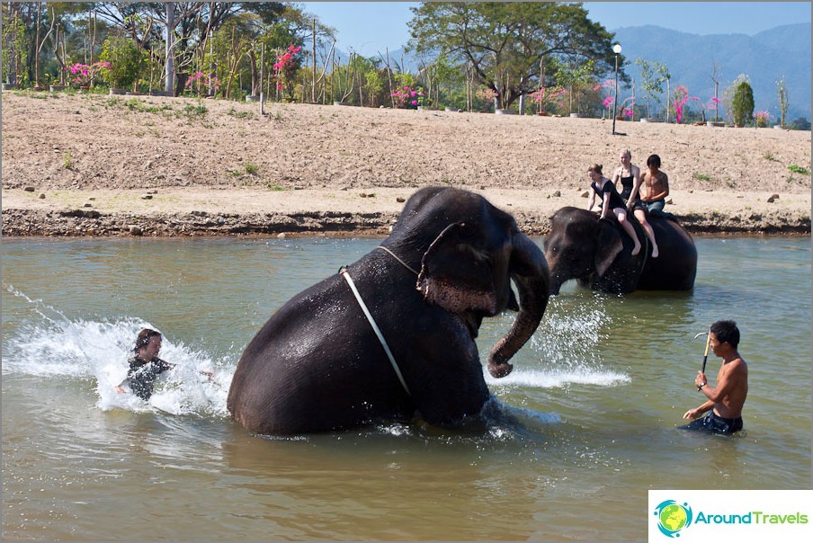
[[[593,59],[614,65],[612,33],[587,18],[581,4],[556,2],[423,2],[408,22],[417,52],[446,55],[509,107],[540,87],[541,63],[553,58]]]

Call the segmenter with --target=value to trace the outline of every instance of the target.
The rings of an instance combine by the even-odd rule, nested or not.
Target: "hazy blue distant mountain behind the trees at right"
[[[714,95],[712,62],[719,66],[720,98],[737,76],[745,74],[754,88],[755,111],[770,111],[773,119],[780,115],[776,81],[783,76],[788,85],[790,121],[810,119],[810,32],[809,22],[779,26],[755,36],[700,36],[648,25],[617,29],[615,40],[621,43],[621,54],[629,63],[624,67],[628,76],[639,77],[636,58],[657,60],[669,68],[673,88],[683,85],[702,102],[709,102]]]

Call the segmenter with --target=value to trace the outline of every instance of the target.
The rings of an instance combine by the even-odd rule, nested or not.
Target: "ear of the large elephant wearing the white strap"
[[[455,314],[496,315],[492,257],[476,245],[477,239],[476,227],[454,223],[429,245],[417,281],[426,301]]]

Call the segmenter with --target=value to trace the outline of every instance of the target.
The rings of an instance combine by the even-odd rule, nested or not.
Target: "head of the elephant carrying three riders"
[[[550,230],[544,241],[550,293],[558,294],[562,284],[571,279],[586,287],[609,280],[608,272],[624,249],[623,239],[610,220],[601,219],[591,211],[572,207],[559,209],[550,218]],[[618,272],[616,268],[613,275]],[[636,269],[634,263],[631,269]],[[613,277],[613,280],[626,283],[637,277]]]

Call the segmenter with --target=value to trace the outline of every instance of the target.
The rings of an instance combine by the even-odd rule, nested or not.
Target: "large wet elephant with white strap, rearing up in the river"
[[[483,318],[518,311],[487,361],[505,377],[548,298],[544,254],[511,215],[473,192],[426,187],[378,247],[271,316],[237,362],[228,411],[273,435],[415,417],[482,427],[493,405],[475,343]]]

